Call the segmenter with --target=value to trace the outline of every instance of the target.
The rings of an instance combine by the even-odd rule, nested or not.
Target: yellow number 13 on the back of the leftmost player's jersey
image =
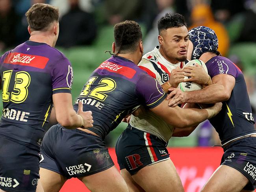
[[[8,92],[9,89],[9,83],[11,80],[11,74],[13,73],[13,70],[4,71],[3,73],[3,89],[2,89],[2,99],[3,102],[14,102],[14,103],[22,103],[26,100],[28,96],[28,86],[30,85],[30,74],[26,71],[20,71],[15,74],[15,84],[13,87],[13,90],[16,92],[11,92],[11,98],[10,93]]]

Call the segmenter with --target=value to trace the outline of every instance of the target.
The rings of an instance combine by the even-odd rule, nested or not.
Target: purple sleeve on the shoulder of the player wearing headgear
[[[229,74],[236,78],[237,70],[237,66],[234,63],[223,59],[213,61],[210,68],[208,68],[211,78],[219,74]]]

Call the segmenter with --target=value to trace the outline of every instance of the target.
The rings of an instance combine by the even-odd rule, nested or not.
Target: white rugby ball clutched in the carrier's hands
[[[186,65],[184,65],[184,67],[186,67],[186,66],[194,66],[196,64],[201,65],[204,68],[204,70],[206,71],[206,73],[208,73],[206,65],[204,64],[204,62],[202,62],[199,59],[194,59],[194,60],[189,61],[188,63],[186,63]],[[188,78],[189,77],[185,76],[184,79],[188,79]],[[193,83],[193,82],[181,82],[178,85],[178,87],[182,91],[193,91],[193,90],[200,90],[200,89],[202,89],[201,85],[198,85],[197,83]]]

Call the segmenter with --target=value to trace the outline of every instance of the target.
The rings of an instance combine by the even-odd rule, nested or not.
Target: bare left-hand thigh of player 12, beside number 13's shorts
[[[67,181],[63,175],[45,168],[40,168],[39,174],[39,182],[45,192],[58,192]]]

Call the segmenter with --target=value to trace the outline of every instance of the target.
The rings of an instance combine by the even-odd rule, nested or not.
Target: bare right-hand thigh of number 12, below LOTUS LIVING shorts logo
[[[91,192],[129,192],[124,178],[115,166],[85,177],[78,177]]]

